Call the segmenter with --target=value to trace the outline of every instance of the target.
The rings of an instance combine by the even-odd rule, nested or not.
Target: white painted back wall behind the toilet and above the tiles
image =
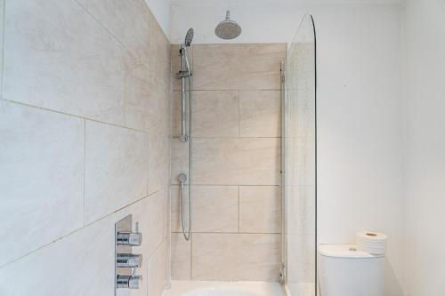
[[[401,295],[401,6],[397,4],[174,5],[172,42],[222,43],[214,26],[231,9],[237,43],[289,42],[304,12],[318,30],[319,242],[386,233],[386,295]]]

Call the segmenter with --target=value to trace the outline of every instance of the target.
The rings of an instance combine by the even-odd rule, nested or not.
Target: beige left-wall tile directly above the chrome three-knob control
[[[148,137],[109,124],[85,124],[85,223],[148,195]]]

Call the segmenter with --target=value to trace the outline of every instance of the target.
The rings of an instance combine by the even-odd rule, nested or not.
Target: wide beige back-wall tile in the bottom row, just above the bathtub
[[[276,281],[279,262],[279,235],[193,235],[193,280]]]

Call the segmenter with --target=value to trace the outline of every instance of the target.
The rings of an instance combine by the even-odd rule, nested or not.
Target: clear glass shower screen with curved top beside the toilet
[[[316,276],[316,44],[306,14],[283,61],[283,272],[292,296],[313,296]]]

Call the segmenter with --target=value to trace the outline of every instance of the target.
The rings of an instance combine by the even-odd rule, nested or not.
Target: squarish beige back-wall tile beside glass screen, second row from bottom
[[[239,187],[239,232],[281,233],[279,186]]]

